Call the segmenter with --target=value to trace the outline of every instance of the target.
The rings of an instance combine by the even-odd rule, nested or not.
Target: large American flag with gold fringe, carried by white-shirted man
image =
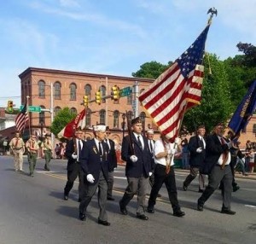
[[[189,49],[138,97],[161,133],[173,142],[185,111],[201,101],[208,25]]]

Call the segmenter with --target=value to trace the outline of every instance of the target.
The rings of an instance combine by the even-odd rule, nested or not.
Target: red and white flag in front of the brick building
[[[79,127],[85,127],[85,108],[59,132],[58,137],[73,137],[73,132]]]

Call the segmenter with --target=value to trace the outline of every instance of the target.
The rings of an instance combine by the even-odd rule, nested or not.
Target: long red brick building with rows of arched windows
[[[53,116],[47,111],[41,113],[30,113],[30,127],[32,132],[40,134],[45,128],[49,128],[51,120],[63,107],[69,107],[73,113],[79,113],[84,106],[84,95],[89,100],[95,99],[96,91],[102,90],[102,96],[110,95],[113,85],[120,89],[125,87],[133,88],[138,82],[139,92],[142,92],[154,80],[149,78],[129,78],[113,75],[78,73],[62,70],[28,67],[20,73],[21,82],[21,103],[25,104],[26,96],[29,96],[28,105],[38,106],[43,109],[53,108]],[[112,139],[120,142],[123,137],[123,114],[128,111],[131,118],[134,117],[132,103],[135,93],[130,96],[121,97],[119,102],[111,99],[103,100],[101,105],[91,102],[86,114],[86,125],[91,127],[97,123],[104,123],[110,127]],[[144,122],[145,129],[154,127],[152,120],[147,118],[143,107],[138,106],[137,113]],[[126,125],[125,125],[126,128]],[[27,132],[26,132],[27,133]],[[87,137],[91,137],[90,130]]]

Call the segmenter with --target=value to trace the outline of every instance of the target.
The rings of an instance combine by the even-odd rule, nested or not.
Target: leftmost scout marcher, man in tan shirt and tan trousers
[[[9,142],[9,147],[11,148],[14,159],[15,159],[15,171],[23,171],[23,154],[25,152],[25,143],[23,139],[20,138],[20,132],[15,132],[15,137]]]

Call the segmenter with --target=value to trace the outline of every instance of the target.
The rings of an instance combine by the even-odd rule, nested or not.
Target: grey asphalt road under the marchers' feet
[[[97,224],[96,196],[88,207],[86,222],[79,220],[78,183],[69,200],[63,197],[66,183],[66,160],[52,160],[51,171],[43,171],[44,160],[38,160],[35,177],[13,170],[13,159],[0,156],[0,244],[43,243],[255,243],[256,181],[237,179],[241,189],[233,194],[232,210],[236,215],[220,213],[222,201],[217,190],[207,201],[203,212],[196,210],[198,182],[182,190],[187,171],[176,171],[178,200],[183,218],[172,216],[166,188],[155,213],[148,221],[135,218],[136,198],[129,204],[128,215],[119,213],[119,200],[124,193],[124,167],[115,171],[113,196],[107,206],[109,227]],[[148,193],[150,187],[148,186]]]

